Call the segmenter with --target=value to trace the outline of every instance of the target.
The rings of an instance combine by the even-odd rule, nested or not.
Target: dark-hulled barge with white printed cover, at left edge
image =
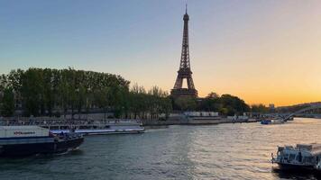
[[[65,153],[83,141],[78,133],[53,135],[39,126],[0,126],[0,157]]]

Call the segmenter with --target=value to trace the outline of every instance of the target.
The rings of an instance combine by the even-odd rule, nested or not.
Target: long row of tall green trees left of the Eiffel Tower
[[[52,116],[100,109],[135,118],[170,112],[169,95],[159,87],[146,91],[129,85],[122,76],[72,68],[12,70],[0,76],[0,116],[17,110],[24,116]]]

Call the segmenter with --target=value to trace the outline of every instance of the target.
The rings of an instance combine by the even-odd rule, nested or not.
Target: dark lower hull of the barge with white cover
[[[64,153],[78,148],[84,138],[32,144],[0,145],[0,157],[25,157],[36,154]]]

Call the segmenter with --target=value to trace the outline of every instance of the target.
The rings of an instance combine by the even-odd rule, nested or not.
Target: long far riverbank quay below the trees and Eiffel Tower
[[[32,118],[3,118],[0,120],[2,125],[39,125],[46,126],[97,126],[97,125],[132,125],[141,124],[142,126],[169,126],[169,125],[213,125],[220,123],[243,123],[243,122],[256,122],[255,119],[228,119],[224,117],[197,117],[188,118],[183,115],[172,116],[167,120],[132,120],[132,119],[106,119],[99,118],[90,120],[70,120],[64,118],[53,117],[32,117]]]

